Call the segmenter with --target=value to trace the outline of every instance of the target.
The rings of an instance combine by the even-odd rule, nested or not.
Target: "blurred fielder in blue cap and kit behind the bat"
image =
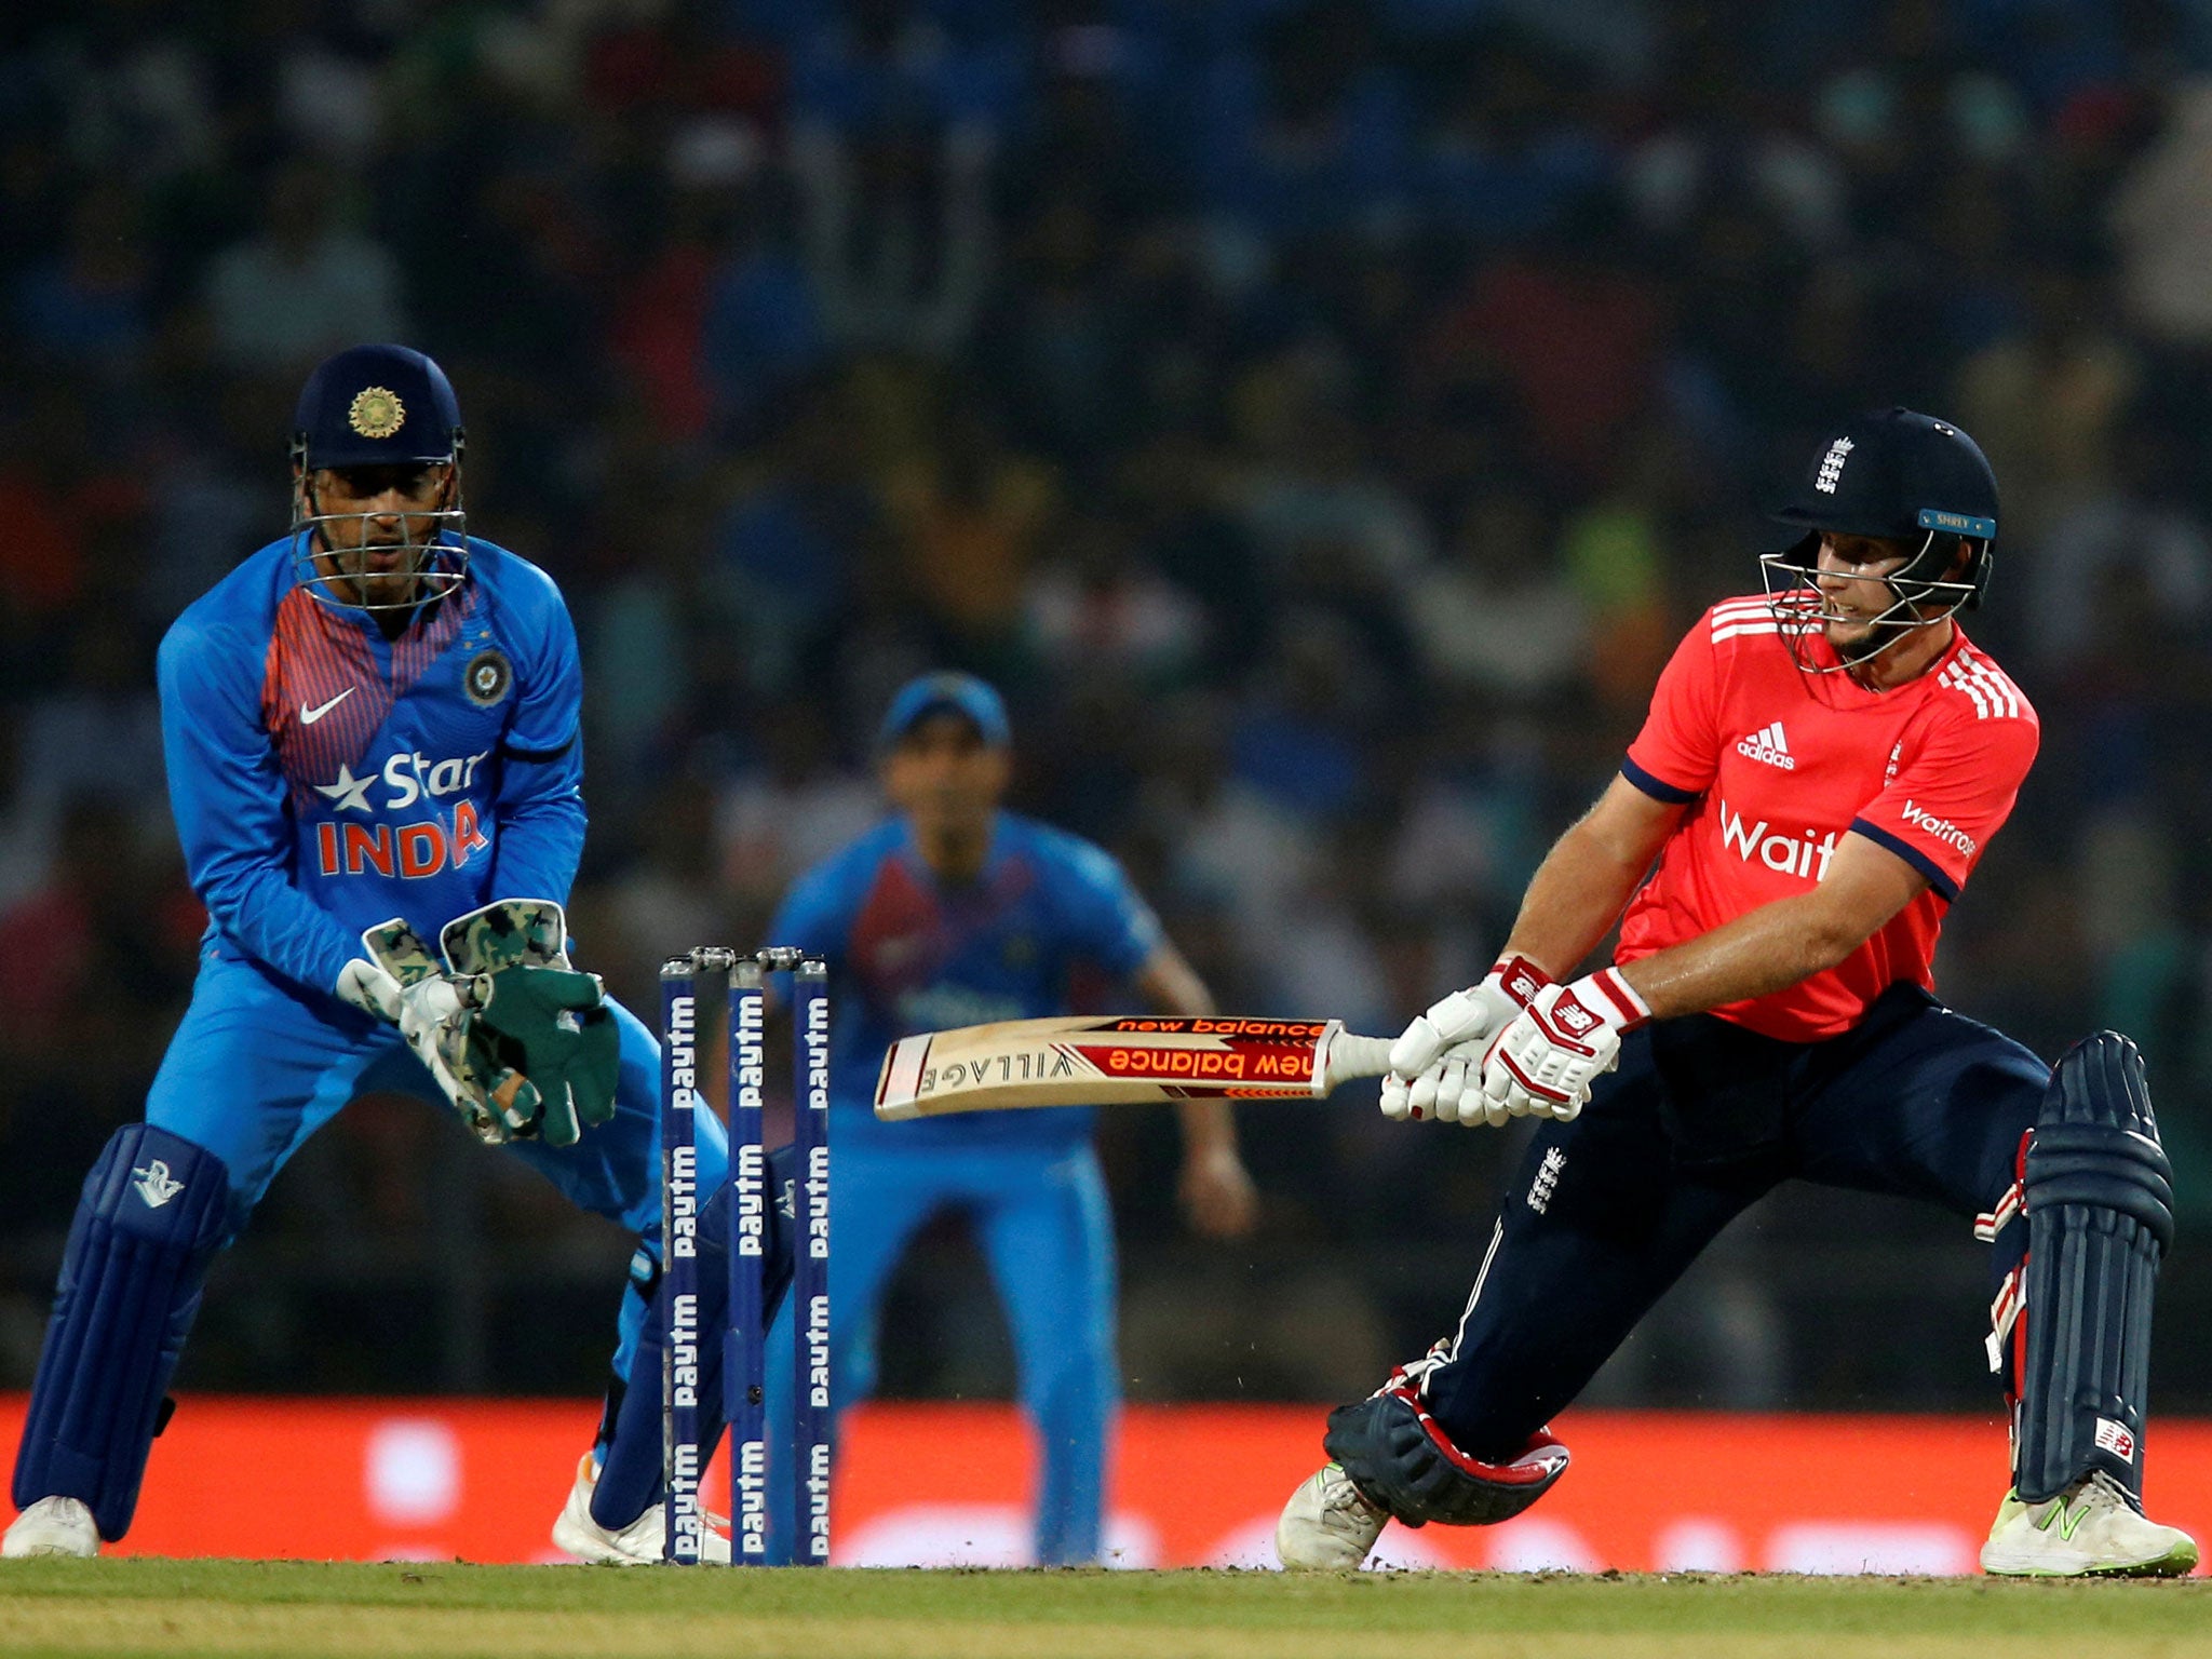
[[[942,1210],[967,1217],[1042,1444],[1035,1559],[1097,1562],[1119,1383],[1113,1214],[1093,1113],[878,1124],[872,1091],[896,1037],[1066,1013],[1086,967],[1133,982],[1155,1013],[1206,1015],[1214,1002],[1110,856],[1000,810],[1013,757],[991,686],[949,672],[907,684],[878,750],[896,816],[807,872],[770,927],[827,956],[834,987],[834,1396],[843,1407],[874,1389],[876,1312],[914,1232]],[[1228,1104],[1179,1110],[1190,1223],[1217,1239],[1248,1232],[1256,1201]]]

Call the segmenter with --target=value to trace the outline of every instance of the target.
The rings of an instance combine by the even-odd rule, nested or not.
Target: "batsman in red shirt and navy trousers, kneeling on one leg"
[[[1790,1177],[1929,1199],[1991,1245],[2013,1482],[1984,1571],[2197,1564],[2141,1500],[2172,1241],[2141,1057],[2099,1031],[2046,1066],[1931,989],[1944,907],[2035,757],[2035,710],[1953,622],[1989,577],[1995,480],[1962,431],[1891,409],[1843,427],[1781,518],[1803,540],[1677,648],[1504,960],[1391,1051],[1391,1117],[1546,1121],[1458,1327],[1329,1416],[1285,1566],[1542,1498],[1568,1464],[1551,1418]],[[1615,920],[1615,962],[1557,982]]]

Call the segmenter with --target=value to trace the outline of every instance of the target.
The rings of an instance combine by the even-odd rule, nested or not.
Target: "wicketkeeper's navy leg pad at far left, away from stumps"
[[[153,1124],[115,1130],[69,1228],[15,1453],[18,1509],[80,1498],[102,1537],[131,1528],[161,1396],[230,1232],[215,1152]]]

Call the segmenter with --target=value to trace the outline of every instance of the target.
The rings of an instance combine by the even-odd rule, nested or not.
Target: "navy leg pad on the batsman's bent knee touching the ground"
[[[1511,1462],[1469,1458],[1405,1385],[1336,1407],[1321,1444],[1367,1502],[1407,1526],[1513,1520],[1566,1473],[1566,1447],[1548,1433]]]

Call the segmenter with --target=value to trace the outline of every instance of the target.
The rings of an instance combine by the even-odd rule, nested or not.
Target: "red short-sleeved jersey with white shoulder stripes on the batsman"
[[[1898,980],[1933,989],[1944,909],[2011,814],[2037,743],[2028,699],[1964,630],[1924,675],[1876,692],[1798,668],[1794,650],[1814,666],[1836,661],[1803,608],[1723,599],[1659,675],[1621,772],[1690,812],[1628,902],[1615,953],[1635,962],[1803,894],[1843,836],[1867,836],[1929,889],[1836,967],[1714,1009],[1792,1042],[1851,1029]]]

